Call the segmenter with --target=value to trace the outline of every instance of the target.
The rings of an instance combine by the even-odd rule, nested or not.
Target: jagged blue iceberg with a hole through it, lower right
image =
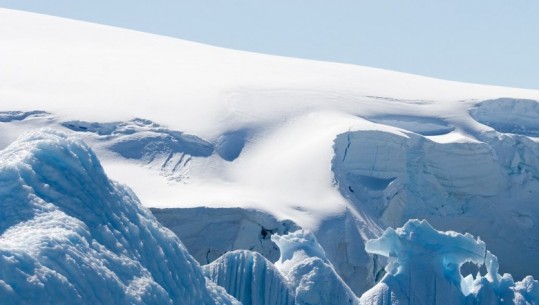
[[[362,305],[387,304],[518,304],[539,302],[539,283],[532,277],[514,282],[498,274],[497,258],[470,234],[440,232],[425,220],[410,220],[369,240],[366,250],[389,258],[386,276],[361,297]],[[486,274],[463,278],[461,267],[471,262]]]

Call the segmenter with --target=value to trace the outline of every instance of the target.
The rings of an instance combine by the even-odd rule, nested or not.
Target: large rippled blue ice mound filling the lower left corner
[[[238,304],[84,143],[57,131],[0,152],[0,234],[5,304]]]

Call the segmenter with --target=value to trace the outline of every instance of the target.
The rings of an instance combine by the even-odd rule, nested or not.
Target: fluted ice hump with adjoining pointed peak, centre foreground
[[[204,266],[206,276],[245,305],[359,305],[312,233],[272,240],[281,253],[275,265],[256,252],[232,251]]]

